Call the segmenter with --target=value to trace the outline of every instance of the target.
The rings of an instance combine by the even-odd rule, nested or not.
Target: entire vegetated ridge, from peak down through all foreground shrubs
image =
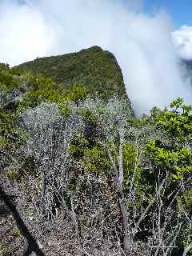
[[[0,255],[192,255],[192,106],[135,117],[105,54],[0,64]]]

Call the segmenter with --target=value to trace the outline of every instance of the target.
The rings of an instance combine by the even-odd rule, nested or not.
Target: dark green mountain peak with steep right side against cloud
[[[102,98],[110,98],[113,94],[126,95],[122,70],[116,58],[98,46],[78,53],[36,58],[18,67],[53,78],[66,88],[74,84],[83,85],[92,93],[97,91]]]

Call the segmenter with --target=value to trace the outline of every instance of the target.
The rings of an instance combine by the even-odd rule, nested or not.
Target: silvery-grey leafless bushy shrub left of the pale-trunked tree
[[[39,217],[51,218],[62,202],[70,170],[70,142],[74,133],[82,130],[75,106],[70,105],[70,114],[62,116],[56,103],[42,103],[22,114],[22,127],[28,139],[22,151],[34,159],[38,173],[40,204],[36,203]],[[39,190],[40,189],[40,190]],[[39,194],[40,193],[40,194]]]

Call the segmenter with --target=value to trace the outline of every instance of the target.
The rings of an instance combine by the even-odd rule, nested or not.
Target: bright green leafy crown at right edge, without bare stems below
[[[150,142],[146,146],[150,159],[168,168],[175,179],[192,174],[192,106],[184,105],[182,98],[178,98],[170,104],[170,110],[153,110],[152,118],[158,129],[166,132],[168,142]]]

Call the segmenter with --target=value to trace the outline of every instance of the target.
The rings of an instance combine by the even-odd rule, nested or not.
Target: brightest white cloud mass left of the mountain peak
[[[0,62],[12,66],[50,53],[56,35],[33,6],[0,5]]]

